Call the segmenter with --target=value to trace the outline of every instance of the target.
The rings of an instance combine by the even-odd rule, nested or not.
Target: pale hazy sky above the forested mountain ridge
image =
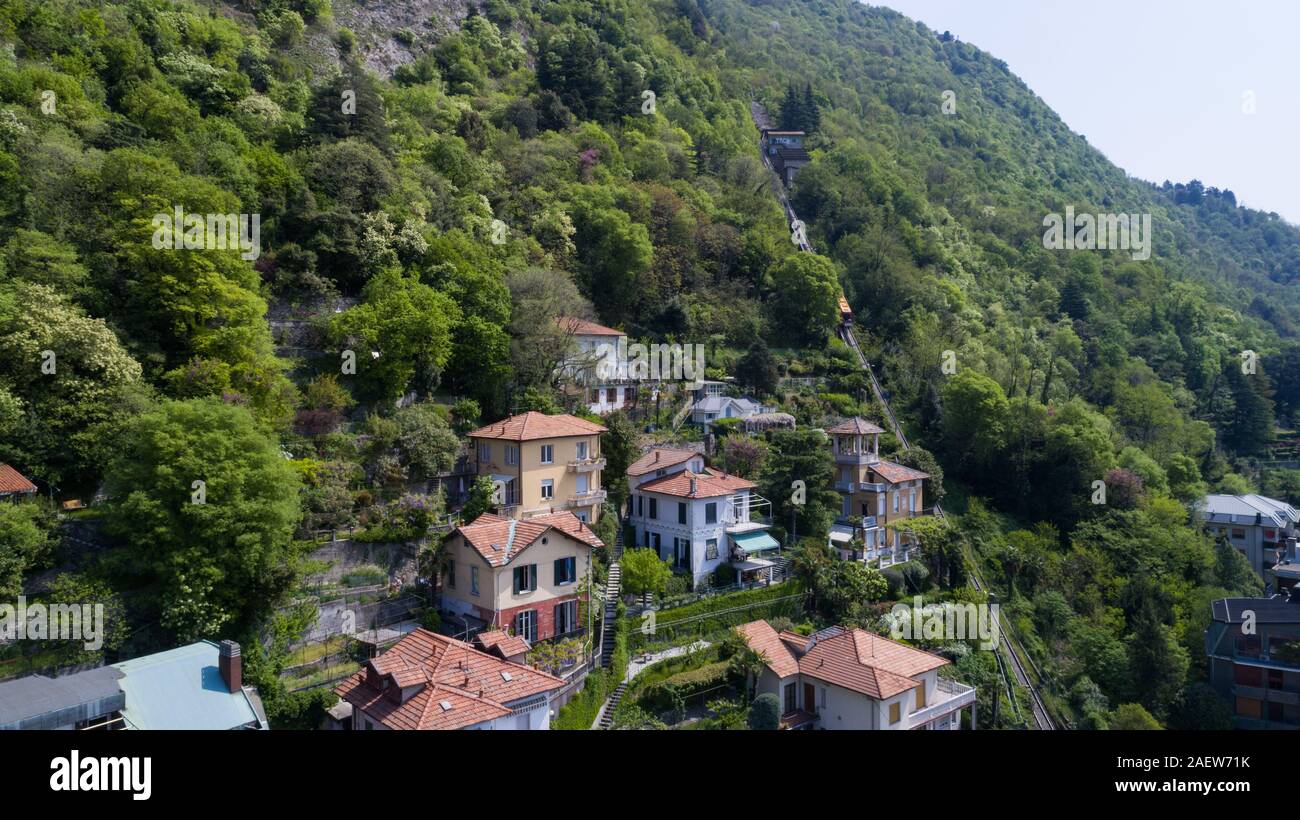
[[[1006,61],[1132,177],[1300,225],[1296,0],[885,0]],[[1253,103],[1253,112],[1248,113]]]

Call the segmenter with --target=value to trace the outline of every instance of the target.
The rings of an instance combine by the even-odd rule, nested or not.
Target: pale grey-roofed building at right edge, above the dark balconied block
[[[1265,581],[1269,569],[1283,563],[1287,545],[1295,555],[1300,512],[1286,502],[1264,495],[1206,495],[1197,506],[1206,532],[1225,538],[1245,555]]]

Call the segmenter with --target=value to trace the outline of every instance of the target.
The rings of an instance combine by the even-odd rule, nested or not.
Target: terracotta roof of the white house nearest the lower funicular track
[[[798,672],[827,684],[859,691],[883,700],[920,685],[916,676],[937,669],[948,661],[939,655],[924,652],[881,638],[864,629],[842,629],[838,633],[818,633],[820,638],[777,634],[767,621],[754,621],[737,626],[754,650],[767,656],[767,665],[779,677]],[[800,647],[811,643],[803,651]]]

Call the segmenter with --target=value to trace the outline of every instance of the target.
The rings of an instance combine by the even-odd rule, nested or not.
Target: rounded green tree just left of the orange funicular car
[[[840,275],[816,253],[792,253],[768,273],[772,327],[798,344],[823,346],[840,317]]]

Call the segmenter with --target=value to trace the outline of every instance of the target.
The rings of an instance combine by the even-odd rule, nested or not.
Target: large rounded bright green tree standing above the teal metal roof
[[[131,420],[109,465],[112,565],[182,641],[255,624],[296,576],[298,476],[248,409],[165,402]]]

